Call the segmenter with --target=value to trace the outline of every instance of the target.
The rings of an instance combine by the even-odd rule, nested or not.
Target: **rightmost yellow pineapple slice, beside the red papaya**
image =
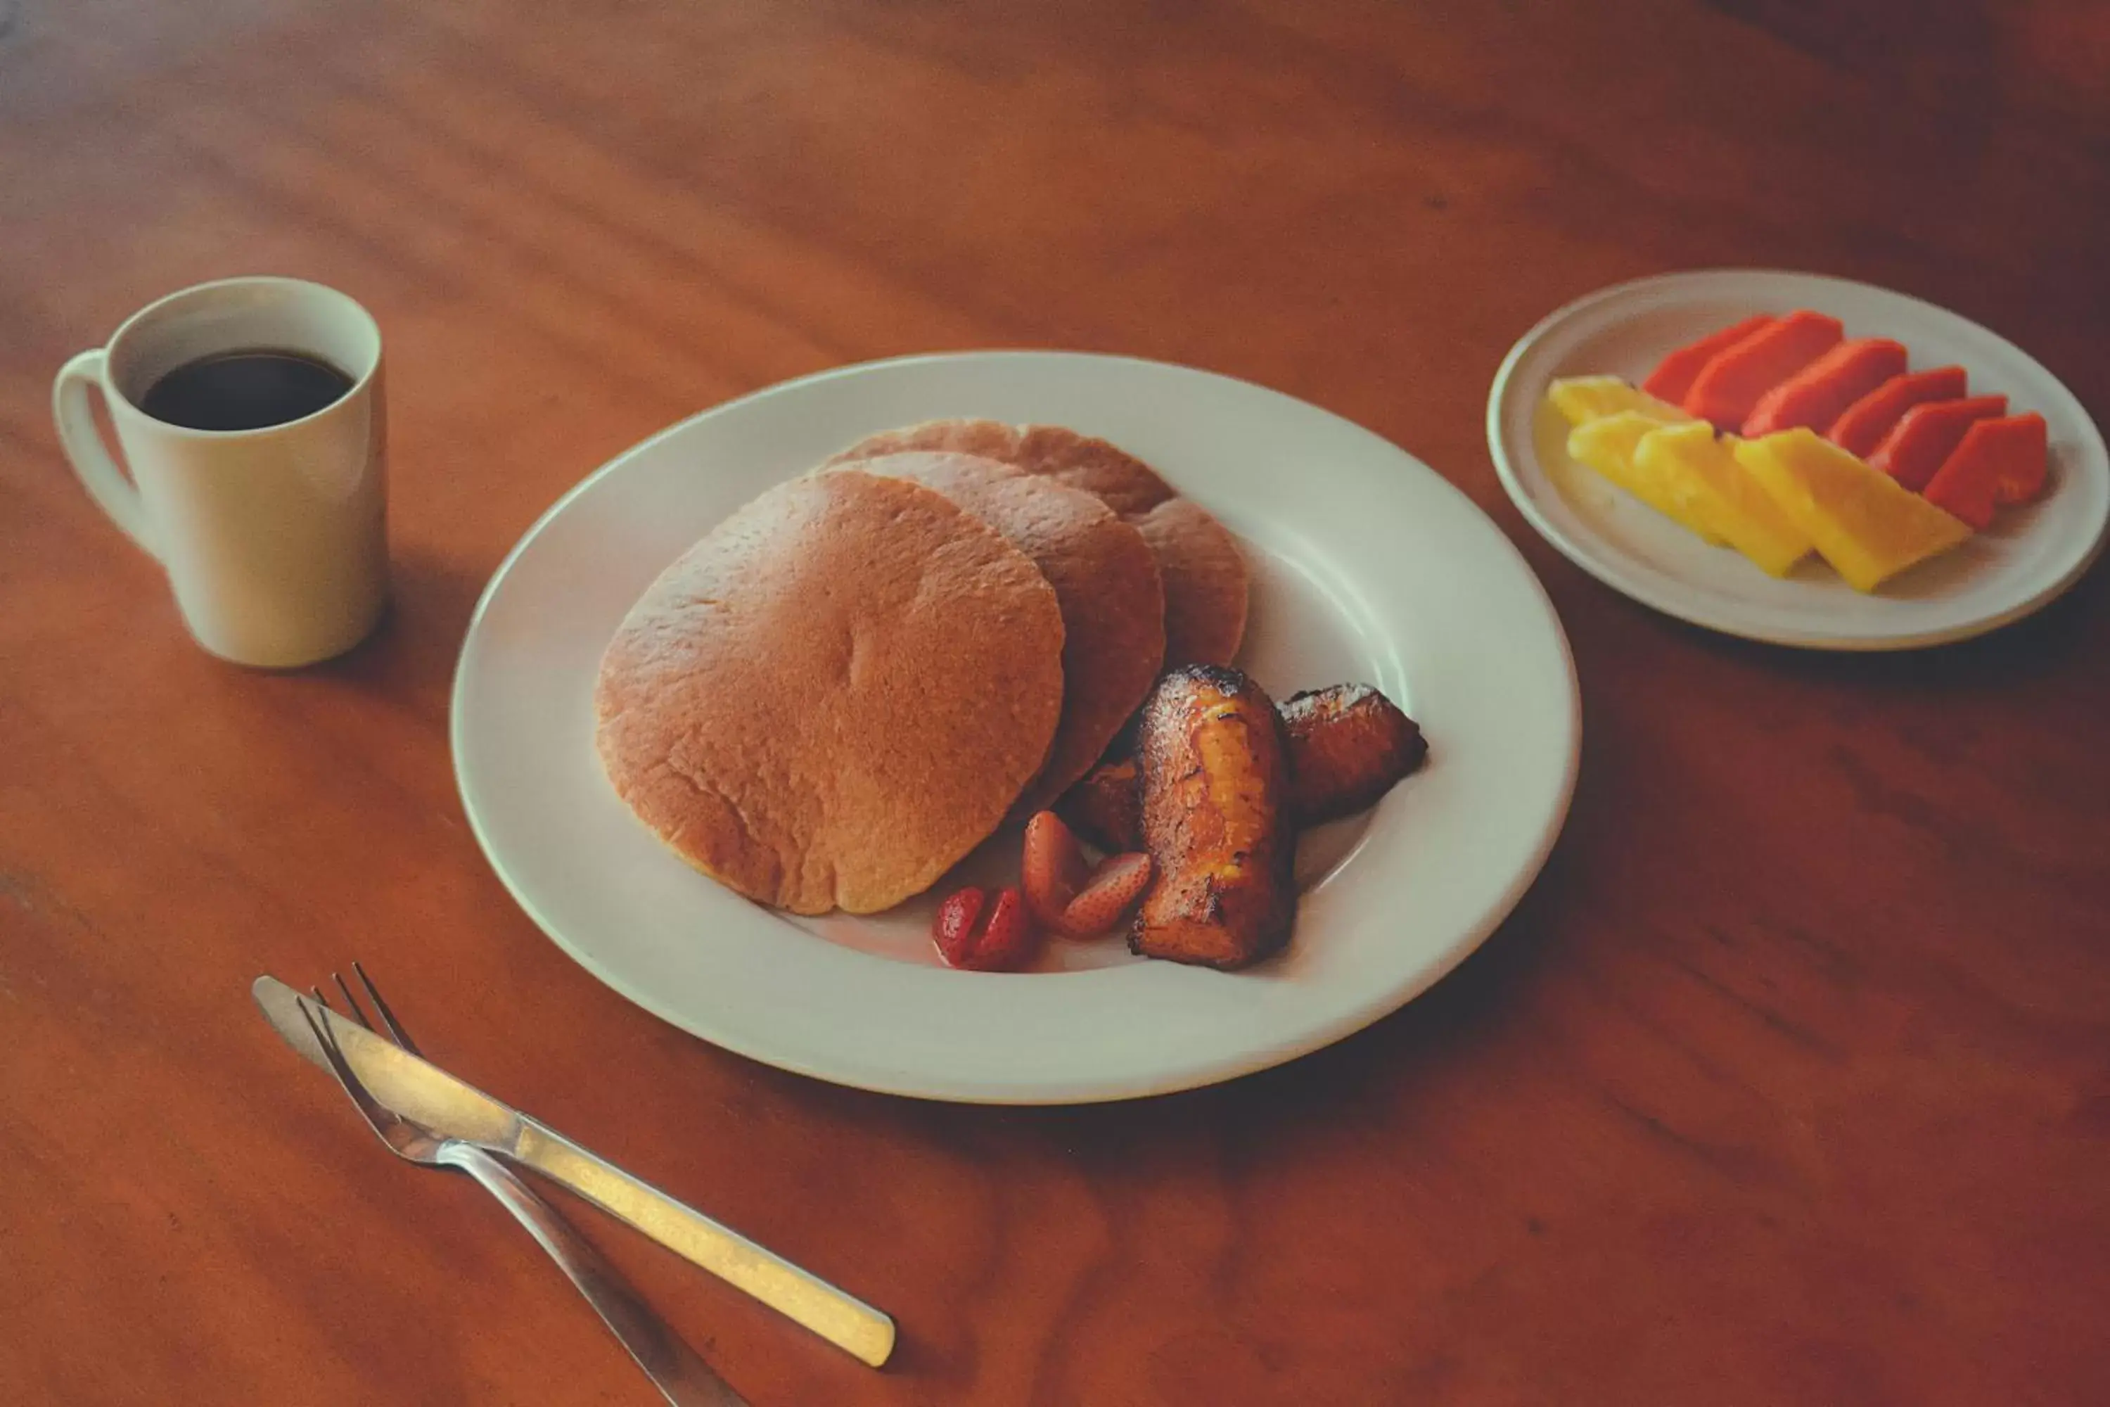
[[[1874,591],[1971,536],[1969,523],[1899,487],[1817,430],[1743,441],[1734,454],[1855,591]]]

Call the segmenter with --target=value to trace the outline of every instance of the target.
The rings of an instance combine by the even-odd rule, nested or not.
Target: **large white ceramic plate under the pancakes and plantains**
[[[1243,662],[1272,692],[1363,679],[1428,766],[1306,837],[1291,949],[1249,972],[1057,943],[1042,972],[935,964],[933,897],[791,922],[669,852],[593,751],[593,679],[631,601],[757,492],[886,426],[1055,422],[1160,468],[1247,542]],[[492,865],[587,970],[760,1061],[990,1103],[1125,1099],[1274,1065],[1393,1010],[1509,913],[1574,785],[1559,620],[1511,542],[1431,468],[1312,405],[1114,356],[916,356],[789,382],[606,464],[492,578],[454,686],[454,764]],[[962,869],[1009,865],[1017,835]],[[941,890],[945,884],[939,886]],[[1068,970],[1063,970],[1068,968]]]

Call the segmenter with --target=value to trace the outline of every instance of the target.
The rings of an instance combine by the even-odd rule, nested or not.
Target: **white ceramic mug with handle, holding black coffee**
[[[257,430],[148,416],[169,371],[222,352],[298,352],[352,388]],[[89,409],[99,386],[131,479]],[[222,278],[148,304],[51,388],[74,473],[160,559],[192,637],[236,664],[287,669],[365,639],[388,595],[382,333],[357,302],[300,278]]]

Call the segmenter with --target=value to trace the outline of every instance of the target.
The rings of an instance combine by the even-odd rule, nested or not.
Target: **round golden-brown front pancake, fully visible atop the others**
[[[793,479],[631,608],[595,688],[601,766],[728,888],[871,913],[928,888],[1040,772],[1061,645],[1055,589],[945,496]]]

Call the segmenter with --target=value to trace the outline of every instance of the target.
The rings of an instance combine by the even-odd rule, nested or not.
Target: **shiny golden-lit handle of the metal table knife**
[[[608,1215],[629,1221],[675,1255],[703,1266],[871,1367],[886,1363],[895,1350],[895,1321],[880,1310],[764,1251],[747,1236],[631,1177],[525,1114],[517,1143],[500,1152],[570,1188]]]

